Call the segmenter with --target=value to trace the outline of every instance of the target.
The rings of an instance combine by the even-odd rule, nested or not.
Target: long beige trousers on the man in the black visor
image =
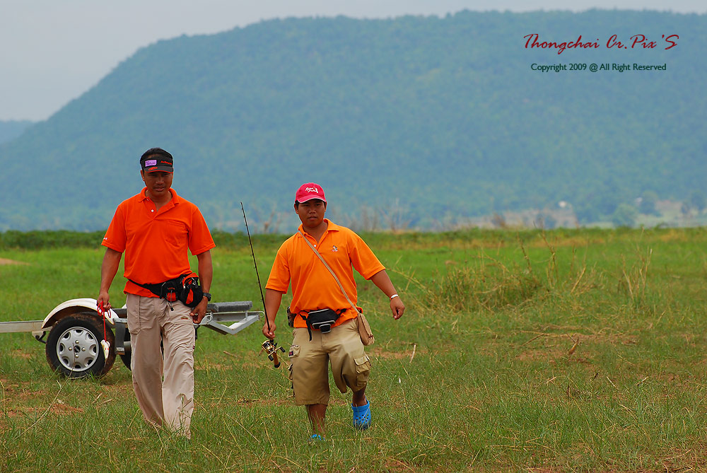
[[[146,421],[189,438],[194,411],[191,309],[157,297],[127,295],[135,397]],[[160,341],[163,351],[160,350]]]

